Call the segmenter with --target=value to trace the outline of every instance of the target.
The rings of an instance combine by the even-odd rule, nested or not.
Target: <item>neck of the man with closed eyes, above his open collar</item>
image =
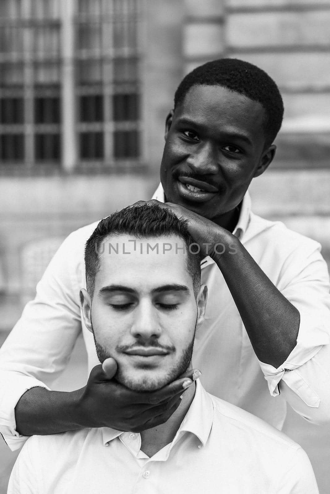
[[[182,401],[170,418],[161,425],[141,432],[141,451],[149,458],[160,451],[167,444],[172,443],[181,422],[185,418],[193,397],[195,395],[195,383],[184,392]]]

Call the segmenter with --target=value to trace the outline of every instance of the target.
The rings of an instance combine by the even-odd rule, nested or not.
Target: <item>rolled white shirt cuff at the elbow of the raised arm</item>
[[[311,360],[324,345],[330,342],[329,330],[323,323],[315,324],[320,320],[319,314],[307,314],[300,312],[300,325],[297,337],[297,344],[289,354],[285,362],[277,369],[270,364],[265,364],[259,360],[261,370],[268,382],[268,388],[272,396],[280,394],[279,382],[281,379],[292,389],[303,401],[311,406],[318,407],[320,400],[317,394],[304,381],[302,376],[295,372]]]

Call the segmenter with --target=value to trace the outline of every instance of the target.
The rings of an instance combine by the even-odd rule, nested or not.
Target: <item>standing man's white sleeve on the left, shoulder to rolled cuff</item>
[[[35,299],[0,348],[0,433],[13,451],[26,440],[16,431],[17,402],[28,389],[49,389],[65,368],[81,331],[84,241],[80,237],[74,232],[63,242],[37,285]]]

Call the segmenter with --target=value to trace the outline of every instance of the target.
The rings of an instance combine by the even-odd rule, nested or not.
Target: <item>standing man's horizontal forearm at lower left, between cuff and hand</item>
[[[81,390],[72,392],[31,388],[15,407],[16,430],[23,436],[48,435],[79,429],[77,403]]]

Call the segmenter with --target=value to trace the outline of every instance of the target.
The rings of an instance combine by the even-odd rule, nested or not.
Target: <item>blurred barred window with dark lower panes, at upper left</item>
[[[70,1],[0,0],[0,168],[141,165],[141,0]]]

